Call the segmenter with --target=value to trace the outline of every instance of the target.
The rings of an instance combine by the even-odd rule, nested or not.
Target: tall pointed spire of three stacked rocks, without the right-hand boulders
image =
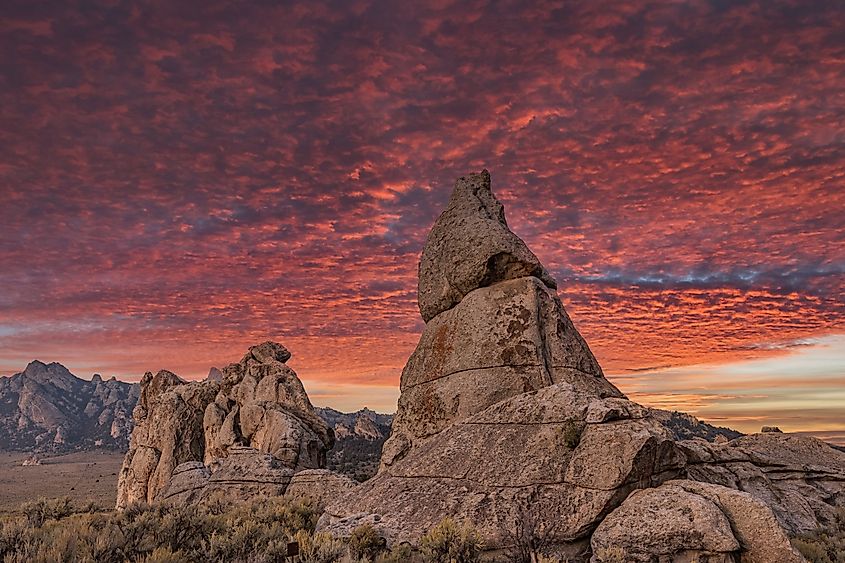
[[[628,493],[679,475],[669,431],[608,382],[484,172],[458,180],[420,265],[427,321],[379,474],[328,506],[416,542],[444,516],[506,547],[526,506],[581,544]],[[369,515],[369,516],[368,516]]]

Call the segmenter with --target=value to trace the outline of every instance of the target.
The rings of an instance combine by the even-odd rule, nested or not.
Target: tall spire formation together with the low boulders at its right
[[[783,435],[678,441],[666,416],[627,400],[508,229],[486,171],[456,182],[419,283],[426,326],[379,473],[330,503],[320,530],[370,523],[389,542],[415,544],[450,516],[492,551],[530,522],[574,561],[774,562],[800,560],[784,530],[845,504],[845,458],[817,440],[794,453],[767,444],[777,460],[757,445]],[[824,463],[799,469],[790,456],[802,450]],[[806,522],[790,526],[778,502],[791,506],[783,495],[797,490],[811,498]]]

